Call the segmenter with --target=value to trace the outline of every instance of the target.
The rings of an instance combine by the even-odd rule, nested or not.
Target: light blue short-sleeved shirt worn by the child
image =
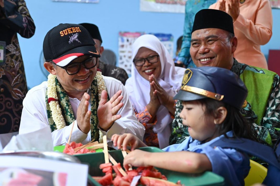
[[[232,135],[232,131],[227,132],[227,136],[231,137]],[[191,151],[205,154],[211,162],[212,172],[224,177],[225,185],[244,185],[244,178],[250,170],[248,155],[235,149],[212,148],[209,146],[223,136],[221,135],[203,144],[198,140],[194,140],[192,137],[188,137],[182,143],[170,145],[162,150],[166,152]]]

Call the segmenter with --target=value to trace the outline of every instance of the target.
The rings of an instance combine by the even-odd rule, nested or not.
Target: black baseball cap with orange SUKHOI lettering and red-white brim
[[[47,62],[60,67],[83,55],[100,57],[90,33],[78,24],[64,23],[53,27],[46,34],[43,53]]]

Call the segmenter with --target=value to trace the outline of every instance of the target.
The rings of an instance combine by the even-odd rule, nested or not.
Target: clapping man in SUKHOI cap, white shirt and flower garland
[[[54,146],[64,145],[70,136],[86,144],[107,135],[110,146],[113,134],[129,132],[143,139],[144,127],[122,83],[97,72],[100,54],[94,45],[77,24],[60,24],[46,34],[44,67],[50,75],[27,93],[20,134],[49,125]]]

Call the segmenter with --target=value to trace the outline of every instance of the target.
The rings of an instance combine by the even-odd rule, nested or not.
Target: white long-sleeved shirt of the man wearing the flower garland
[[[116,80],[112,77],[103,76],[103,79],[105,81],[110,98],[113,97],[118,90],[122,90],[121,95],[123,96],[123,99],[121,102],[124,104],[117,113],[122,117],[116,120],[107,132],[101,130],[103,135],[107,135],[108,145],[112,146],[113,144],[111,142],[111,137],[113,134],[131,133],[143,140],[145,128],[137,121],[132,105],[129,101],[129,96],[123,84],[119,80]],[[26,97],[23,100],[23,110],[19,134],[34,132],[45,127],[45,125],[49,125],[45,101],[46,88],[47,82],[44,81],[40,85],[33,87],[27,92]],[[77,98],[70,97],[69,101],[73,109],[74,118],[76,119],[77,109],[80,101]],[[88,109],[90,110],[90,105],[88,106]],[[65,145],[67,143],[72,125],[73,123],[64,127],[63,129],[57,129],[52,132],[53,146]],[[99,125],[98,128],[100,129]],[[91,141],[90,132],[88,134],[83,133],[78,128],[76,120],[71,135],[71,141],[83,144],[87,144]]]

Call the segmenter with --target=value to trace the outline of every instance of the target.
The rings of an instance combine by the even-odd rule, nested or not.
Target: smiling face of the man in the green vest
[[[219,28],[205,28],[192,33],[190,55],[197,67],[212,66],[230,70],[237,38]]]

